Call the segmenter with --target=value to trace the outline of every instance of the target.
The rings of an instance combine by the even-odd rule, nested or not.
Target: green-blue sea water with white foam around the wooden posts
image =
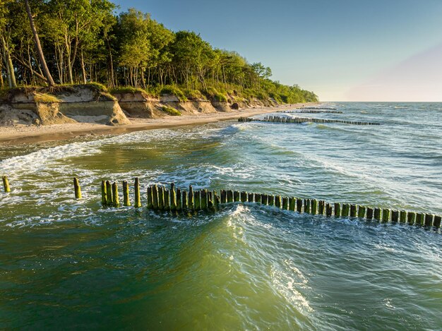
[[[226,121],[0,146],[13,188],[0,328],[440,330],[440,233],[256,205],[100,207],[103,179],[138,176],[143,192],[173,181],[442,214],[442,104],[326,106],[344,114],[300,116],[383,125]]]

